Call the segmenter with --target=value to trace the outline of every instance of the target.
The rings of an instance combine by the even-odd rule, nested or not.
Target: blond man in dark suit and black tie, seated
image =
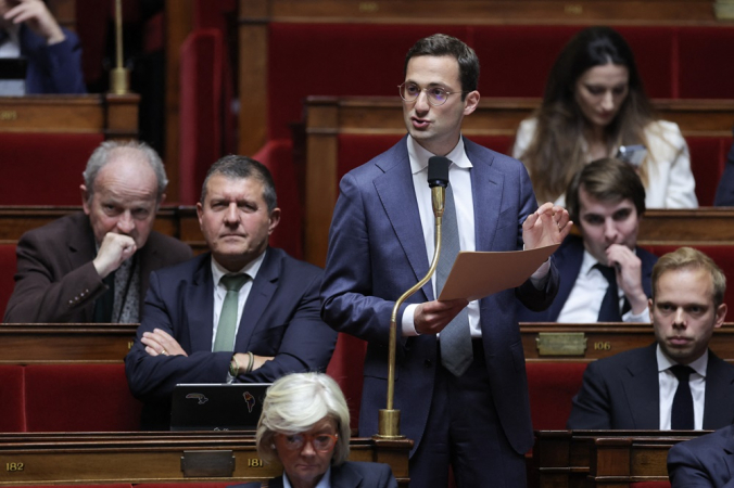
[[[734,422],[734,367],[708,348],[726,316],[726,279],[681,247],[653,269],[657,342],[589,364],[568,428],[716,429]]]

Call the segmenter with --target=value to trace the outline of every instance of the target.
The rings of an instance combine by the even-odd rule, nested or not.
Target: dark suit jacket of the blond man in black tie
[[[657,344],[589,363],[568,428],[660,428]],[[709,350],[704,429],[734,422],[734,367]]]

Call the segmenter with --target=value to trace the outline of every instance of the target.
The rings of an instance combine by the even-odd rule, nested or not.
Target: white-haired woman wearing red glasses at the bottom
[[[397,487],[389,465],[346,460],[350,410],[326,374],[294,373],[276,381],[263,402],[256,438],[261,459],[282,464],[283,474],[267,485],[229,488]]]

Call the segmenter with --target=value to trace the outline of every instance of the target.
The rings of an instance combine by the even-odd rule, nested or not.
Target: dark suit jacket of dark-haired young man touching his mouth
[[[658,257],[653,253],[637,247],[637,257],[642,261],[642,284],[645,295],[653,296],[650,277],[653,275],[653,266],[658,261]],[[553,260],[560,274],[560,284],[558,295],[546,310],[532,311],[527,307],[520,307],[518,320],[520,322],[555,322],[558,320],[560,311],[566,305],[566,300],[571,294],[581,270],[581,264],[584,256],[583,240],[575,235],[569,235],[564,243],[553,254]]]

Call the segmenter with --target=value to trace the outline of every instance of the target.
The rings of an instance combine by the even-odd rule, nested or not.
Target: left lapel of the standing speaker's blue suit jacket
[[[414,280],[418,281],[428,273],[429,262],[406,144],[406,140],[403,139],[393,152],[394,157],[385,158],[378,164],[384,175],[376,178],[374,184],[390,224],[413,269]],[[428,300],[434,299],[430,282],[422,287],[422,291]]]

